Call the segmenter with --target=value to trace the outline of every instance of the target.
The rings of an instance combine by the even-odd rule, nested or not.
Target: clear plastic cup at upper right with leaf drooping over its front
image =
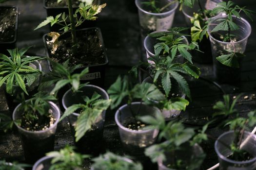
[[[212,49],[212,56],[213,56],[213,68],[214,68],[214,75],[218,82],[226,83],[226,82],[237,82],[240,80],[240,68],[231,68],[221,64],[217,61],[216,57],[224,54],[228,54],[230,51],[235,51],[238,53],[244,53],[246,49],[247,39],[252,32],[251,25],[249,22],[243,18],[239,19],[236,18],[235,23],[238,25],[239,30],[231,31],[230,34],[236,35],[236,42],[223,42],[219,38],[219,34],[227,34],[227,31],[218,31],[218,32],[211,32],[215,27],[216,24],[220,23],[218,19],[225,18],[226,15],[217,17],[213,19],[209,24],[208,34],[211,41],[211,49]],[[241,63],[241,60],[239,60]]]

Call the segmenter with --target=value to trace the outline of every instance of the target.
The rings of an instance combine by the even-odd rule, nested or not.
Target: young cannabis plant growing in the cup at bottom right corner
[[[223,99],[224,102],[217,102],[214,105],[214,109],[217,109],[218,112],[216,115],[224,115],[224,116],[230,116],[232,115],[233,118],[230,118],[224,122],[225,126],[229,126],[230,130],[234,131],[234,140],[230,146],[227,146],[230,148],[232,154],[231,159],[233,160],[246,160],[245,155],[247,152],[240,149],[242,138],[244,131],[248,129],[248,127],[253,127],[256,124],[256,111],[251,111],[248,113],[248,117],[240,117],[239,113],[236,109],[234,109],[236,101],[241,95],[238,95],[236,99],[230,104],[230,96],[224,95]],[[222,141],[219,141],[222,143]]]

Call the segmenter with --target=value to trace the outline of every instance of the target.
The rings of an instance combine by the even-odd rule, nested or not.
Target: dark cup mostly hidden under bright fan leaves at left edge
[[[31,65],[31,67],[37,68],[40,71],[42,70],[39,61],[34,61],[31,64],[33,64],[33,65]],[[38,86],[39,86],[40,78],[41,77],[38,77],[38,79],[35,80],[35,82],[32,85],[30,85],[30,86],[25,84],[27,92],[29,94],[29,95],[26,95],[24,93],[25,99],[31,98],[34,94],[36,94],[38,92]],[[20,103],[20,101],[18,101],[17,96],[18,96],[18,94],[22,93],[23,90],[20,88],[20,86],[13,85],[13,93],[9,94],[9,93],[6,92],[6,84],[5,83],[3,84],[3,90],[4,90],[4,94],[5,94],[5,99],[6,99],[7,105],[9,107],[10,114],[12,114],[13,110],[15,109],[15,107]]]

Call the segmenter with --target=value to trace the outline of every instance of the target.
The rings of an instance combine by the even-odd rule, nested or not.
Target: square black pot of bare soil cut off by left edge
[[[17,41],[17,33],[18,33],[18,17],[19,17],[19,9],[16,6],[0,6],[0,8],[15,8],[16,9],[16,24],[15,24],[15,33],[13,41],[9,42],[1,42],[0,41],[0,53],[8,54],[7,49],[15,49],[16,41]]]

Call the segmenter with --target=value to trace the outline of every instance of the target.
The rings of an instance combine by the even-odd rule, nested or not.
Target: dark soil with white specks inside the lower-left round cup
[[[48,129],[50,126],[53,126],[56,121],[51,113],[49,113],[47,116],[40,116],[39,113],[35,113],[34,116],[37,118],[37,120],[31,121],[26,119],[25,114],[23,113],[21,115],[20,127],[28,131],[41,131]]]

